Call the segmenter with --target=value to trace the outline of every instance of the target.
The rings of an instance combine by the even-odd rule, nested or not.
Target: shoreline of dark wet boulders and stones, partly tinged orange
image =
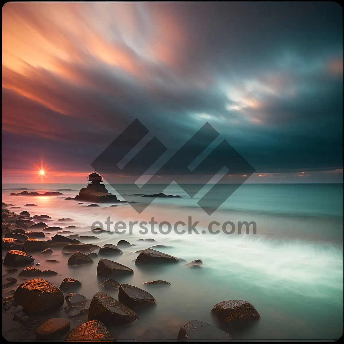
[[[134,243],[120,240],[117,245],[105,244],[102,247],[83,243],[83,237],[66,236],[73,233],[66,230],[68,227],[49,227],[48,215],[30,216],[28,211],[16,214],[7,209],[7,206],[2,203],[2,251],[6,252],[2,264],[7,272],[3,276],[6,282],[2,284],[2,289],[9,287],[13,289],[2,295],[2,312],[7,314],[10,312],[13,320],[19,322],[20,331],[25,332],[21,334],[22,339],[28,334],[35,334],[37,340],[63,340],[64,338],[65,341],[116,341],[116,333],[112,333],[112,330],[108,328],[109,325],[124,325],[140,321],[138,315],[140,310],[154,308],[157,304],[154,289],[151,294],[138,286],[119,283],[116,280],[120,276],[131,276],[136,273],[134,267],[131,269],[116,262],[116,257],[123,255],[121,248],[135,246]],[[57,221],[63,223],[63,220],[66,219]],[[68,219],[67,222],[70,221],[72,219]],[[52,237],[45,236],[51,232],[55,233]],[[203,268],[203,262],[200,259],[186,262],[182,258],[173,257],[155,248],[159,248],[159,245],[137,251],[135,266],[160,265],[163,267],[175,264],[185,268]],[[49,257],[54,251],[70,255],[67,265],[73,268],[94,264],[93,259],[98,255],[101,256],[96,276],[87,278],[101,280],[99,284],[104,292],[97,292],[93,296],[88,309],[84,308],[86,297],[77,293],[82,286],[80,281],[66,276],[59,287],[54,286],[45,278],[57,275],[58,272],[40,270],[39,263],[36,263],[32,257],[33,253]],[[50,261],[53,263],[54,260]],[[17,276],[27,277],[29,280],[18,283],[18,279],[15,278]],[[171,283],[153,280],[143,285],[168,289]],[[167,289],[166,297],[168,297]],[[118,300],[107,293],[111,290],[118,290]],[[65,302],[66,307],[64,307]],[[70,320],[49,316],[56,310],[64,310],[68,319],[73,320],[78,317],[84,323],[70,331]],[[213,309],[209,309],[209,312],[215,316],[219,326],[221,324],[248,324],[260,320],[260,315],[254,306],[243,300],[218,302]],[[39,316],[40,320],[37,320],[36,316]],[[195,317],[197,318],[197,314]],[[156,327],[149,327],[140,338],[133,338],[133,340],[178,341],[230,339],[232,339],[230,333],[201,319],[191,319],[181,324],[180,331],[174,338],[166,338],[164,332]]]

